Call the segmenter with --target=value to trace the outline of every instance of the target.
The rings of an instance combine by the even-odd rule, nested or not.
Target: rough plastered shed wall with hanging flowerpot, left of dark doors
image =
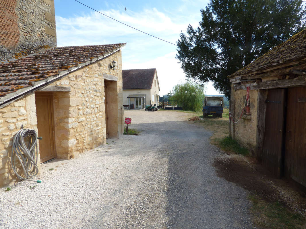
[[[234,121],[237,121],[244,107],[246,90],[232,91],[231,112]],[[256,148],[256,130],[257,130],[257,97],[258,90],[250,90],[250,113],[251,115],[242,116],[241,120],[231,125],[231,136],[238,140],[244,147],[253,154]]]

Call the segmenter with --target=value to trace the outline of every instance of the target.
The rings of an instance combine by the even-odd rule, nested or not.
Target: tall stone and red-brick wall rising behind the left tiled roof
[[[0,0],[0,60],[56,47],[54,0]]]

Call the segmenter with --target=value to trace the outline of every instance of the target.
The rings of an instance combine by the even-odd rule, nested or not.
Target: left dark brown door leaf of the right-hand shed
[[[277,177],[283,171],[284,97],[284,89],[270,89],[266,100],[263,164]]]

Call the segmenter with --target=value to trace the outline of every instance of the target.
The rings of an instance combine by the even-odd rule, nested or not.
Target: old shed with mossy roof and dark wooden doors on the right
[[[230,135],[275,176],[305,185],[306,30],[229,77]]]

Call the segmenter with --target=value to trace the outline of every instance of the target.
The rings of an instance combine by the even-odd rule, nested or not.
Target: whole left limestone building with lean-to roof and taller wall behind
[[[15,7],[19,12],[20,5]],[[18,181],[11,152],[22,128],[42,136],[39,170],[40,163],[76,157],[123,134],[121,48],[126,43],[56,47],[54,2],[39,0],[23,7],[31,10],[5,15],[20,32],[3,27],[8,32],[0,33],[0,187]],[[35,34],[43,28],[40,43],[23,34],[33,28]]]

